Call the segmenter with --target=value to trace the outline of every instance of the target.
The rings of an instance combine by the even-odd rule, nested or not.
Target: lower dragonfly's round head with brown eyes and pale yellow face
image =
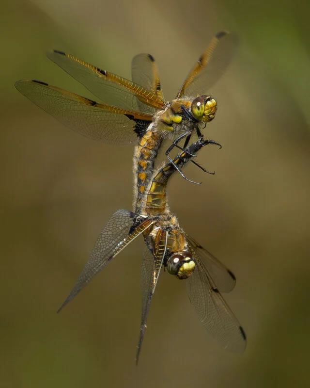
[[[173,253],[167,260],[167,270],[179,279],[187,279],[195,269],[193,255],[188,251]]]

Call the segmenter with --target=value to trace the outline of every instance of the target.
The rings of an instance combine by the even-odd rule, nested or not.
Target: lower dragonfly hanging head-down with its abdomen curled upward
[[[184,231],[167,203],[167,183],[177,171],[176,166],[182,168],[208,144],[215,142],[199,137],[172,162],[154,172],[150,189],[144,194],[144,209],[140,213],[122,209],[112,215],[102,229],[75,286],[59,309],[71,301],[130,242],[142,235],[145,251],[141,263],[142,314],[136,363],[151,300],[163,267],[178,279],[186,279],[188,296],[200,321],[223,348],[240,353],[246,347],[245,331],[220,293],[233,290],[235,276]]]

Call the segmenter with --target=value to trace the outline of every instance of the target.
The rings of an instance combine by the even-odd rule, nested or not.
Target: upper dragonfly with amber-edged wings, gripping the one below
[[[201,130],[214,119],[217,101],[207,90],[224,73],[237,45],[235,34],[218,32],[171,101],[164,99],[154,57],[145,53],[132,60],[132,81],[60,50],[47,53],[51,61],[83,84],[100,102],[43,81],[16,81],[15,86],[62,124],[86,137],[116,145],[136,144],[134,210],[139,213],[163,140],[173,139],[166,150],[169,162],[173,163],[169,156],[171,150],[185,148],[192,133],[201,136]],[[180,147],[182,139],[185,142]],[[197,164],[194,160],[191,162]],[[177,165],[175,168],[187,179]]]

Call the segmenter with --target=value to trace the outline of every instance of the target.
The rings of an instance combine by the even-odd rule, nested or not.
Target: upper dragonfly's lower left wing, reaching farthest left
[[[138,126],[152,120],[151,114],[100,104],[41,81],[17,81],[15,86],[62,124],[94,140],[135,143]]]

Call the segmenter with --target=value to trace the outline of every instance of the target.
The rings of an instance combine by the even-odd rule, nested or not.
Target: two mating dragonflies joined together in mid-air
[[[133,58],[132,81],[62,51],[54,50],[47,54],[102,102],[41,81],[16,82],[16,88],[23,95],[73,130],[95,140],[136,143],[134,212],[118,210],[112,215],[62,307],[142,234],[146,248],[141,265],[142,316],[137,362],[162,267],[179,279],[187,279],[189,298],[202,324],[224,348],[242,352],[246,346],[245,332],[220,294],[220,291],[233,289],[234,275],[186,234],[175,215],[171,214],[166,200],[171,174],[178,171],[187,179],[181,171],[186,162],[191,161],[207,172],[192,160],[203,146],[217,144],[202,137],[201,130],[217,111],[217,101],[208,96],[206,90],[225,71],[236,45],[235,35],[219,32],[172,101],[164,100],[155,60],[150,54],[139,54]],[[198,135],[198,141],[188,146],[193,133]],[[155,171],[155,159],[165,139],[173,140],[166,151],[169,162]],[[182,139],[185,143],[181,147],[179,143]],[[169,154],[173,147],[180,148],[182,152],[171,159]]]

